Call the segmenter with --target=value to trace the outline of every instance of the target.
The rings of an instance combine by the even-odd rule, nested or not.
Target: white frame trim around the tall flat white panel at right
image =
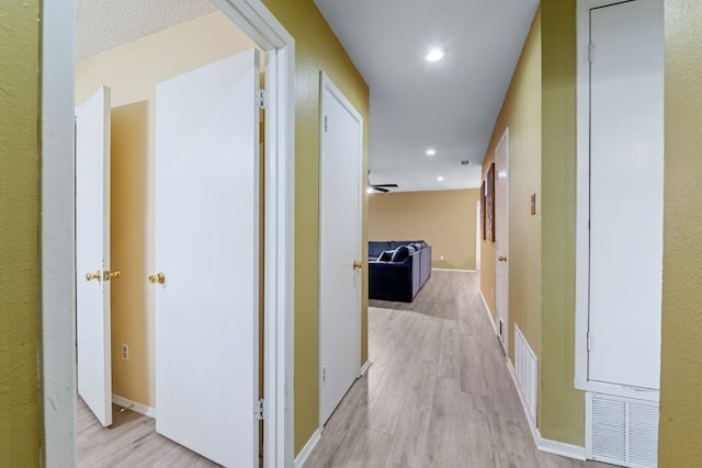
[[[590,316],[590,10],[621,0],[578,0],[577,4],[577,158],[576,158],[576,282],[575,388],[642,400],[658,401],[658,390],[632,389],[588,379]]]

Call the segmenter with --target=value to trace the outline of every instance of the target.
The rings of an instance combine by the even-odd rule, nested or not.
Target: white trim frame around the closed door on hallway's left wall
[[[349,102],[349,100],[343,95],[343,93],[341,92],[341,90],[339,88],[337,88],[337,85],[331,81],[331,79],[329,78],[329,76],[327,73],[325,73],[324,71],[320,72],[320,87],[319,87],[319,155],[324,155],[324,134],[325,134],[325,112],[324,112],[324,94],[325,94],[325,90],[328,90],[329,93],[331,95],[333,95],[340,103],[341,105],[343,105],[343,107],[349,112],[349,114],[351,114],[353,116],[353,118],[359,122],[359,138],[360,138],[360,144],[359,144],[359,148],[361,149],[361,153],[359,155],[359,171],[358,171],[358,193],[359,193],[359,216],[362,216],[363,213],[363,197],[361,196],[361,194],[363,193],[363,117],[361,116],[361,114],[355,110],[355,107],[353,106],[353,104],[351,104]],[[321,199],[321,194],[322,194],[322,190],[321,186],[325,183],[324,179],[321,178],[321,174],[324,173],[322,170],[322,165],[324,165],[324,159],[320,158],[319,161],[320,164],[320,169],[319,169],[319,174],[320,174],[320,179],[319,179],[319,194],[320,194],[320,198],[319,198],[319,213],[321,216],[321,207],[322,204],[325,203],[324,199]],[[324,219],[319,219],[319,252],[321,253],[321,243],[324,241],[324,239],[321,238],[321,226],[325,222]],[[363,239],[363,226],[362,226],[362,220],[359,219],[358,222],[358,239],[359,239],[359,246],[356,249],[356,260],[361,263],[363,263],[363,259],[362,259],[362,246],[361,246],[361,241]],[[319,255],[319,265],[321,265],[322,259],[321,255]],[[351,266],[351,265],[349,265]],[[356,281],[361,281],[359,278],[359,275],[361,273],[356,272],[355,278]],[[321,285],[321,282],[319,283]],[[361,377],[361,290],[362,287],[358,287],[356,288],[356,312],[355,313],[355,327],[354,327],[354,333],[355,333],[355,340],[353,341],[355,344],[355,349],[353,350],[354,355],[356,356],[356,372],[355,372],[355,376],[356,378]],[[321,296],[321,288],[319,288],[319,296]],[[321,322],[324,320],[322,317],[322,310],[321,308],[319,309],[319,336],[318,336],[318,342],[319,342],[319,368],[318,370],[318,388],[319,388],[319,401],[318,401],[318,413],[319,413],[319,434],[321,434],[322,430],[324,430],[324,424],[326,421],[322,421],[322,414],[321,414],[321,385],[322,385],[322,380],[321,380],[321,367],[322,367],[322,349],[321,349],[321,331],[322,331],[322,327],[321,327]]]

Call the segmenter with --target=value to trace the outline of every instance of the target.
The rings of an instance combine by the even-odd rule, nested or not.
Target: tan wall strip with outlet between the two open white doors
[[[112,393],[152,406],[149,284],[146,252],[148,213],[149,137],[148,102],[112,110],[111,256],[112,270],[122,277],[112,290]],[[147,312],[148,311],[148,312]],[[121,343],[129,345],[122,359]]]

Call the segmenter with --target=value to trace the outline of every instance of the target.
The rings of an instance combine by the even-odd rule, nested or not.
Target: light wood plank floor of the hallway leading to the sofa
[[[414,303],[370,306],[373,364],[305,468],[610,467],[535,449],[478,273],[434,271]]]

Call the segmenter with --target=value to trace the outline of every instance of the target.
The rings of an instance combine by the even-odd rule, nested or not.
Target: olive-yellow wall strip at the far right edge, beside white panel
[[[666,175],[658,464],[702,466],[702,2],[666,1]]]

